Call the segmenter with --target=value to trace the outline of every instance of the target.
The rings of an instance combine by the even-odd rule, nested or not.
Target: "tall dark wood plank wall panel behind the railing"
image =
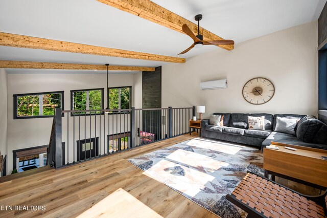
[[[142,108],[161,108],[161,67],[142,73]],[[161,113],[143,111],[143,131],[161,137]]]

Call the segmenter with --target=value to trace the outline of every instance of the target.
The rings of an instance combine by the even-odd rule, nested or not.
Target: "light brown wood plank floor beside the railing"
[[[48,167],[5,177],[0,180],[0,206],[45,210],[0,210],[0,216],[217,217],[127,161],[197,136],[183,135],[57,170]]]

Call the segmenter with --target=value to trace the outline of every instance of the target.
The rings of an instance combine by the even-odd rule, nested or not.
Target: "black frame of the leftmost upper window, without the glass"
[[[20,96],[28,96],[28,95],[47,95],[47,94],[61,94],[61,109],[64,110],[64,91],[56,91],[56,92],[38,92],[38,93],[25,93],[25,94],[14,94],[14,120],[16,119],[33,119],[33,118],[49,118],[54,117],[54,115],[39,115],[39,116],[18,116],[18,108],[17,108],[17,97]],[[62,114],[64,117],[64,114]]]

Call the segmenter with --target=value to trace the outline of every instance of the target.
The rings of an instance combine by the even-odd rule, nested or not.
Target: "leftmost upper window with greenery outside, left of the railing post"
[[[63,91],[14,95],[14,119],[53,117],[63,102]]]

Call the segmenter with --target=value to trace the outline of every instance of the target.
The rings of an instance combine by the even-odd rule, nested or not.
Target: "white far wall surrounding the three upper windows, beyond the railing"
[[[8,74],[8,173],[12,170],[13,150],[49,144],[53,121],[53,118],[14,120],[13,94],[64,91],[64,109],[70,110],[71,90],[106,88],[106,85],[105,74]],[[133,96],[139,93],[134,90],[133,74],[109,74],[109,87],[114,86],[132,86],[134,105]],[[106,96],[106,89],[104,94]],[[104,107],[106,103],[104,97]],[[63,119],[63,133],[65,122]]]

